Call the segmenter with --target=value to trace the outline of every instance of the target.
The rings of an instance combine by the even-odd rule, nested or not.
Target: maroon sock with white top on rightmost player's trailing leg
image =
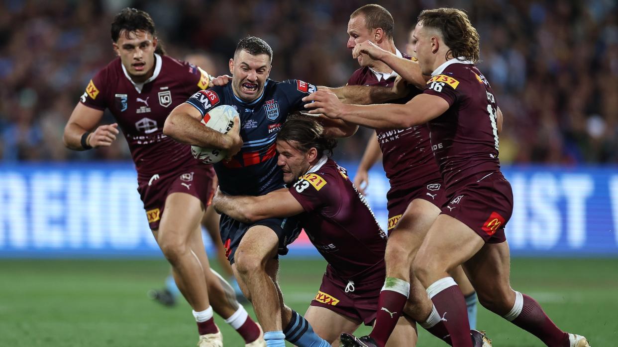
[[[504,319],[535,335],[549,347],[569,347],[569,333],[556,327],[541,305],[528,295],[515,292],[515,304]]]

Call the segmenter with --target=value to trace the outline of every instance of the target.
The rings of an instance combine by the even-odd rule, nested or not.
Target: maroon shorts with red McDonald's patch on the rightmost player
[[[513,213],[513,190],[500,171],[484,176],[456,190],[442,214],[463,222],[485,242],[501,243]]]

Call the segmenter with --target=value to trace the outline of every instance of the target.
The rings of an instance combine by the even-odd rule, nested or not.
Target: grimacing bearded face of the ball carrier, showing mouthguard
[[[237,97],[251,102],[261,96],[264,84],[270,74],[271,59],[268,54],[252,55],[240,51],[230,59],[232,89]]]

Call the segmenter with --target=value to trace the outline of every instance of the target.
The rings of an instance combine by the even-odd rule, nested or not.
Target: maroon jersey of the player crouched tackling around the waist
[[[290,192],[305,209],[300,224],[338,276],[350,279],[382,265],[386,234],[334,160],[321,158]]]

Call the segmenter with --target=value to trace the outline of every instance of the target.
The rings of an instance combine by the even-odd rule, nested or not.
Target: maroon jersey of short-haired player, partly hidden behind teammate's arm
[[[397,55],[411,59],[408,55],[400,54],[399,51]],[[359,68],[354,71],[347,84],[392,87],[397,78],[397,73],[386,75],[386,79],[383,78],[383,74],[379,75],[381,76],[378,80],[376,73],[369,67]],[[395,100],[393,103],[405,104],[418,93],[413,92],[407,98]],[[391,187],[423,186],[426,182],[440,181],[438,164],[431,152],[427,125],[407,129],[376,129],[376,135],[382,150],[382,165]]]

